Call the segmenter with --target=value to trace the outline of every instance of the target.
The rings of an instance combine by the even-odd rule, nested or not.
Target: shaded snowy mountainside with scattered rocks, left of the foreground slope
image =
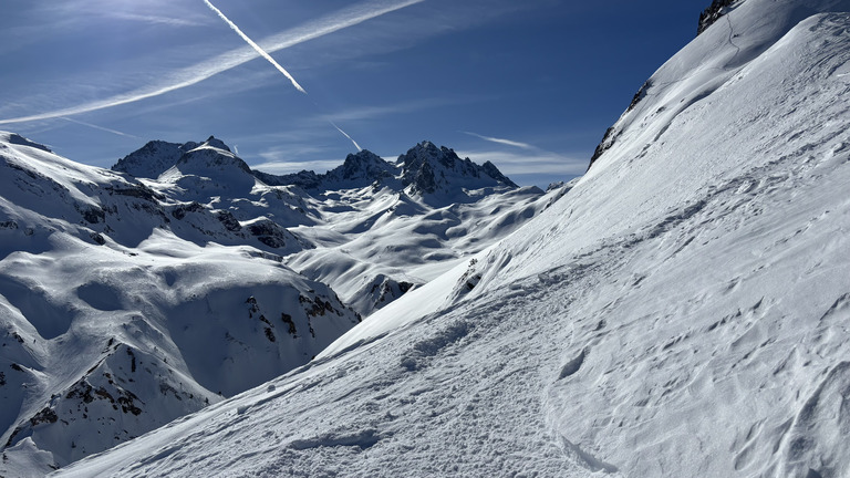
[[[357,323],[279,256],[211,242],[239,239],[257,240],[0,133],[0,475],[20,450],[62,466],[138,436]]]

